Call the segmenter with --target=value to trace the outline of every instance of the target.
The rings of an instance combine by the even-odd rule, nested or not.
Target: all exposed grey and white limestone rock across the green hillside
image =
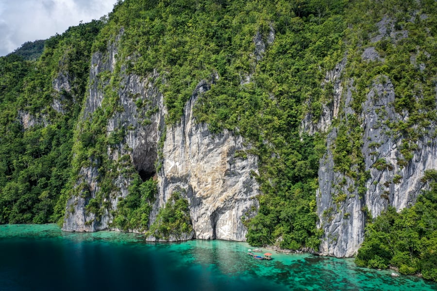
[[[362,62],[385,61],[372,46],[374,42],[385,37],[396,41],[408,37],[406,31],[396,32],[391,25],[387,18],[377,24],[379,34],[362,48]],[[387,26],[390,26],[389,30]],[[259,33],[255,35],[256,61],[263,58],[274,39],[271,26],[266,42]],[[109,79],[115,76],[119,83],[111,90],[117,96],[113,106],[117,109],[105,121],[104,129],[106,137],[120,130],[124,132],[120,140],[104,149],[108,161],[115,166],[102,174],[101,161],[92,156],[81,165],[74,181],[74,192],[67,201],[63,230],[120,230],[114,226],[115,213],[134,181],[126,173],[134,171],[144,180],[153,178],[157,182],[157,194],[150,202],[149,227],[174,192],[181,193],[188,201],[192,231],[166,239],[149,235],[147,240],[245,241],[247,229],[242,218],[248,213],[256,213],[256,196],[262,195],[253,178],[258,174],[258,157],[247,152],[251,149],[250,143],[235,132],[212,133],[207,124],[197,123],[193,116],[196,101],[210,90],[218,75],[213,74],[209,81],[199,80],[185,104],[182,118],[169,124],[166,122],[165,96],[156,83],[159,74],[154,72],[140,77],[126,73],[117,55],[117,39],[106,52],[93,54],[89,92],[81,116],[84,122],[96,122],[98,113],[107,107],[105,96],[111,83]],[[350,56],[345,53],[341,62],[325,73],[320,87],[331,85],[330,99],[322,104],[319,116],[304,114],[301,124],[302,132],[318,133],[326,140],[326,150],[319,161],[319,189],[316,191],[317,226],[324,231],[318,253],[335,257],[356,254],[364,240],[366,222],[371,217],[380,215],[388,207],[400,211],[413,205],[424,187],[421,178],[425,171],[437,168],[436,124],[421,128],[417,139],[407,138],[404,132],[395,130],[392,124],[407,122],[410,116],[406,111],[395,110],[394,81],[385,74],[371,80],[357,110],[356,104],[353,105],[357,91],[355,80],[345,74],[349,69],[348,62]],[[415,59],[411,62],[421,69],[422,64],[416,64]],[[251,78],[251,74],[242,75],[241,84],[251,82]],[[58,91],[67,90],[68,86],[62,85],[68,84],[67,79],[60,75],[53,86]],[[53,106],[62,110],[57,103]],[[24,118],[25,113],[22,115],[25,123],[29,118]],[[347,128],[351,118],[356,119],[355,129],[360,132],[358,139],[357,135],[354,137],[359,151],[353,153],[358,156],[360,165],[352,163],[350,169],[339,169],[336,148],[340,137],[352,136],[352,129]],[[407,156],[407,147],[411,156]],[[245,154],[239,154],[241,152]],[[101,182],[104,175],[110,177],[112,189],[108,190]],[[102,195],[100,210],[91,211],[90,203]],[[128,231],[145,232],[136,228]]]

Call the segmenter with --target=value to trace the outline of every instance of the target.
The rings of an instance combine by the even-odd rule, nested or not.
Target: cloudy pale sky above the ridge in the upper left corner
[[[0,56],[27,41],[47,39],[80,21],[100,19],[116,0],[0,0]]]

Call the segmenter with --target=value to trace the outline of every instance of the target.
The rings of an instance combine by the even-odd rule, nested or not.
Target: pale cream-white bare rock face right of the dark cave
[[[195,124],[194,102],[207,89],[201,82],[181,124],[167,129],[158,204],[162,207],[173,191],[184,188],[195,238],[245,241],[247,230],[240,218],[257,207],[258,185],[251,172],[257,172],[258,159],[234,157],[237,150],[247,149],[241,137],[227,130],[214,135],[205,124]]]

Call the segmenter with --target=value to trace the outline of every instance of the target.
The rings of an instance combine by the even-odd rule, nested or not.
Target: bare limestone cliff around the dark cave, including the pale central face
[[[111,45],[106,54],[95,53],[90,71],[89,96],[85,100],[83,118],[90,118],[101,107],[104,93],[99,75],[102,72],[114,72],[117,60],[117,47]],[[247,229],[241,217],[251,208],[257,207],[255,196],[259,194],[258,185],[252,173],[257,173],[256,156],[236,157],[237,151],[248,149],[240,136],[227,130],[213,134],[207,125],[198,124],[193,117],[193,106],[197,97],[209,90],[210,84],[201,81],[185,105],[181,121],[166,125],[163,96],[154,86],[150,78],[136,75],[121,76],[121,88],[117,94],[118,106],[122,109],[108,119],[106,134],[119,129],[126,130],[123,140],[116,146],[107,148],[109,160],[118,162],[120,171],[113,179],[117,188],[109,198],[105,198],[106,206],[100,215],[87,210],[87,204],[102,191],[99,169],[93,166],[82,167],[75,188],[78,194],[67,201],[67,211],[63,230],[66,231],[98,231],[111,229],[114,219],[113,211],[117,210],[120,198],[128,195],[132,179],[122,174],[122,168],[132,167],[146,178],[157,180],[158,194],[152,203],[150,225],[155,221],[161,208],[174,191],[183,189],[183,196],[189,202],[189,214],[193,227],[191,233],[168,240],[223,239],[245,241]],[[147,109],[138,108],[135,101],[140,99],[149,104]],[[153,108],[147,118],[145,112]],[[160,141],[164,141],[160,144]],[[161,147],[161,148],[160,148]],[[160,151],[159,168],[156,167]],[[123,157],[123,161],[119,162]],[[127,157],[127,159],[126,159]],[[81,187],[86,185],[88,195],[83,194]],[[131,231],[138,231],[131,229]],[[158,240],[150,236],[148,240]]]

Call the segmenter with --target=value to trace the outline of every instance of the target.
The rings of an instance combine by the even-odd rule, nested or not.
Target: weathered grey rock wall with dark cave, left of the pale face
[[[91,59],[90,86],[88,96],[84,101],[83,120],[93,120],[93,113],[101,107],[104,97],[104,87],[108,81],[101,80],[100,75],[105,72],[114,73],[116,67],[117,46],[108,46],[106,54],[94,53]],[[153,78],[153,76],[151,76]],[[119,199],[128,195],[128,187],[132,178],[125,175],[126,171],[135,169],[140,174],[154,175],[154,162],[157,158],[157,142],[159,132],[163,128],[162,95],[152,86],[148,78],[120,73],[120,84],[117,88],[118,110],[109,118],[106,125],[106,135],[123,129],[125,135],[118,145],[107,147],[108,159],[117,164],[117,173],[113,176],[114,188],[111,193],[101,193],[101,173],[93,164],[83,167],[75,182],[74,188],[78,194],[67,201],[63,230],[65,231],[98,231],[108,229],[113,220],[113,211],[117,209]],[[137,98],[148,106],[138,108]],[[146,112],[158,107],[159,111],[151,114],[147,124],[144,124]],[[127,158],[126,158],[127,157]],[[101,213],[86,210],[91,199],[98,195],[104,197],[105,207]],[[134,231],[134,230],[133,230]]]

